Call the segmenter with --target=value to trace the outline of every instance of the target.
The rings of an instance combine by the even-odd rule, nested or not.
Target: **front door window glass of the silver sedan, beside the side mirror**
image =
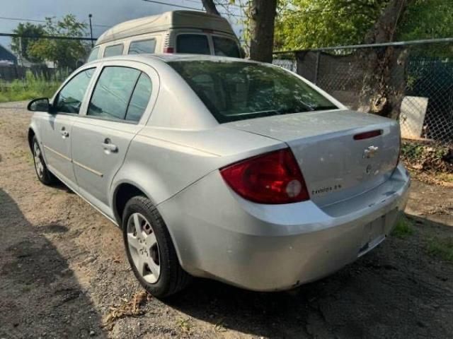
[[[56,112],[79,114],[84,100],[86,89],[91,81],[95,69],[86,69],[71,78],[59,91],[54,103]]]

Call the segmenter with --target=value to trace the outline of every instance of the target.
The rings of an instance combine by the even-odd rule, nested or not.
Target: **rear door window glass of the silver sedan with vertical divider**
[[[88,106],[88,116],[139,121],[151,96],[149,77],[137,69],[105,67]]]

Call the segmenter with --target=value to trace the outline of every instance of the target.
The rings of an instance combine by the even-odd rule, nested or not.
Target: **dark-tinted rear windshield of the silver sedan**
[[[219,123],[278,114],[337,109],[297,76],[241,61],[168,62]]]

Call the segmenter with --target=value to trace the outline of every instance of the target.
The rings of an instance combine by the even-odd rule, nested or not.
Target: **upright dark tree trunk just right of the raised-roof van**
[[[250,58],[272,62],[277,0],[252,0],[250,13]]]

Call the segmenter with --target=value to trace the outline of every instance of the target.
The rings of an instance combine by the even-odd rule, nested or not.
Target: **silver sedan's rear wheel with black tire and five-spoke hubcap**
[[[165,222],[148,198],[135,196],[126,203],[122,234],[132,271],[151,295],[168,297],[190,283]]]

